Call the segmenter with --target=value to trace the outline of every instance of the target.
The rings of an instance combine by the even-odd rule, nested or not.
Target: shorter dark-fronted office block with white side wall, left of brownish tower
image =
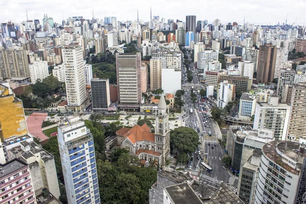
[[[91,100],[94,112],[107,112],[111,105],[109,80],[91,79]]]

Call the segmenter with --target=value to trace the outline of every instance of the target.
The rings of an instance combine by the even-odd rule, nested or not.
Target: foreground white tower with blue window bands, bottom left
[[[63,119],[58,142],[68,203],[100,203],[93,136],[85,122],[77,116]]]

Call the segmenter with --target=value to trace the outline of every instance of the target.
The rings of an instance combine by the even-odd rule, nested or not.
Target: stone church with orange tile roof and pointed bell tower
[[[165,98],[162,96],[156,115],[155,133],[147,124],[136,124],[132,128],[122,127],[116,132],[121,137],[121,148],[125,148],[136,155],[142,164],[156,161],[164,166],[170,156],[169,110]]]

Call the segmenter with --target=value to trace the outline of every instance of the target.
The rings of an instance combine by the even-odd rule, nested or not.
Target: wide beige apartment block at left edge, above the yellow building
[[[30,77],[27,50],[0,49],[0,77]]]

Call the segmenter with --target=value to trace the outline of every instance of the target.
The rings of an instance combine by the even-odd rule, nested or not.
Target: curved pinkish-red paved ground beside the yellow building
[[[41,130],[42,122],[46,119],[47,115],[47,113],[32,113],[27,119],[29,133],[40,140],[48,139]]]

